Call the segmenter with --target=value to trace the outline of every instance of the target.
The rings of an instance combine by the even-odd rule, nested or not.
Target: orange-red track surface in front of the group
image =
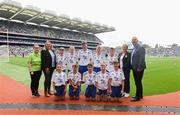
[[[173,107],[180,107],[180,91],[175,92],[175,93],[169,93],[169,94],[164,94],[164,95],[157,95],[157,96],[146,96],[144,97],[144,99],[142,101],[139,102],[130,102],[129,98],[124,98],[122,103],[104,103],[104,102],[86,102],[84,99],[84,96],[80,97],[80,100],[78,101],[72,101],[69,100],[68,97],[66,98],[65,101],[63,102],[54,102],[53,101],[53,96],[50,98],[46,98],[44,96],[41,96],[40,98],[32,98],[31,97],[31,93],[30,93],[30,88],[28,88],[27,86],[18,83],[15,80],[12,80],[8,77],[5,77],[3,75],[0,76],[0,103],[37,103],[37,104],[99,104],[99,105],[137,105],[137,106],[173,106]],[[41,94],[43,94],[41,92]],[[47,111],[47,112],[45,112]],[[71,113],[70,111],[74,111],[74,110],[21,110],[21,112],[19,112],[18,110],[0,110],[0,113],[3,114],[8,114],[13,113],[13,114],[18,114],[18,113],[49,113],[49,114],[55,114],[58,111],[62,111],[60,113]],[[77,111],[77,110],[75,110]],[[79,111],[79,113],[82,111]],[[9,113],[9,114],[10,114]],[[78,113],[78,112],[76,112]],[[84,114],[125,114],[128,112],[110,112],[110,111],[83,111]],[[71,114],[74,114],[74,112],[72,112]],[[132,112],[131,112],[132,114]],[[133,114],[140,114],[140,113],[133,113]],[[141,113],[141,114],[148,114],[148,113]],[[161,114],[161,113],[158,113]],[[164,114],[164,113],[163,113]]]

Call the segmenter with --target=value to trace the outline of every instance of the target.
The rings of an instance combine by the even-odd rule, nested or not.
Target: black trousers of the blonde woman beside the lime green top
[[[51,91],[51,78],[52,78],[52,74],[54,72],[54,69],[55,68],[49,68],[49,72],[46,72],[45,70],[43,70],[44,76],[45,76],[44,92],[50,92]]]

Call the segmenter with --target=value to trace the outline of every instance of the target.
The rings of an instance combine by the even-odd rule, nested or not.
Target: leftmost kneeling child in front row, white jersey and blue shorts
[[[55,94],[55,101],[65,100],[67,90],[67,77],[66,73],[62,71],[60,64],[56,65],[56,71],[52,76],[53,89]]]

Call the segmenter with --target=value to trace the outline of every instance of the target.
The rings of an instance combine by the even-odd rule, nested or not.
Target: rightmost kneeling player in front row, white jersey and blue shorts
[[[120,98],[124,93],[124,73],[119,69],[119,62],[113,62],[114,70],[110,72],[109,87],[111,91],[111,102],[121,102]]]

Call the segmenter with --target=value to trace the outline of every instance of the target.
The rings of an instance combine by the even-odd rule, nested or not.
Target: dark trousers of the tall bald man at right
[[[136,85],[136,97],[141,98],[143,97],[143,85],[142,85],[142,78],[143,78],[144,70],[137,71],[133,69],[133,76]]]

